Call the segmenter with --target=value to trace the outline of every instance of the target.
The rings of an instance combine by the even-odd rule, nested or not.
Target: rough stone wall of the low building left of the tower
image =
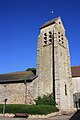
[[[0,104],[7,98],[7,104],[31,104],[33,102],[33,84],[0,84]]]

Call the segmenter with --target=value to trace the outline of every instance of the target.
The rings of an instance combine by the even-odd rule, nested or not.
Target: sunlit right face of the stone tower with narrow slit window
[[[57,45],[55,46],[56,102],[59,108],[64,111],[73,109],[73,89],[68,41],[60,19],[55,25],[55,33],[57,33]]]

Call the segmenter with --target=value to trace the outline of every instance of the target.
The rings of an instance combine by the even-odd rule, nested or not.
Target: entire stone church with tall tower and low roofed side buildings
[[[74,108],[80,92],[80,67],[70,66],[70,54],[61,18],[40,27],[36,75],[31,71],[0,74],[0,104],[34,104],[38,96],[53,94],[61,111]],[[79,94],[77,95],[79,99]]]

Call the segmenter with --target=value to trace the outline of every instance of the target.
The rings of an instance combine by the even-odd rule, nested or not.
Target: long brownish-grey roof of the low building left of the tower
[[[0,74],[0,83],[31,82],[35,77],[31,71]]]

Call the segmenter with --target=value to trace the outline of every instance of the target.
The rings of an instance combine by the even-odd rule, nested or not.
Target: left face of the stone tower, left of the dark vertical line
[[[44,43],[44,33],[53,31],[52,27],[41,30],[38,39],[37,52],[37,75],[38,75],[38,96],[51,94],[53,92],[53,76],[52,76],[52,44],[47,39],[47,45]]]

